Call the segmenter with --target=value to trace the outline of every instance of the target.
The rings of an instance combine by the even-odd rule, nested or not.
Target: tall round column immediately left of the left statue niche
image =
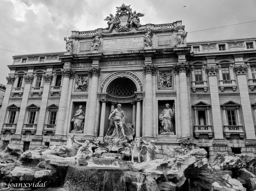
[[[75,71],[70,68],[61,69],[62,72],[62,89],[60,95],[60,105],[58,111],[58,118],[56,123],[56,136],[63,136],[63,128],[66,118],[66,110],[67,110],[67,101],[68,101],[68,89],[69,87],[69,78],[75,74]]]

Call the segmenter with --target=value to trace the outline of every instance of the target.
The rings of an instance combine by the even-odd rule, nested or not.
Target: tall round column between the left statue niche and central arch
[[[100,75],[100,68],[89,68],[89,73],[92,75],[92,83],[89,91],[90,99],[87,102],[86,110],[87,112],[87,125],[85,129],[85,137],[87,139],[94,138],[94,127],[96,121],[96,111],[97,111],[97,92],[98,92],[98,79]]]

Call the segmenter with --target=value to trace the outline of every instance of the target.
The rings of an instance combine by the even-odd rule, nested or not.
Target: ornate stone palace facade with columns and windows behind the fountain
[[[256,38],[186,42],[181,21],[141,26],[134,18],[123,26],[112,25],[112,17],[107,29],[72,31],[67,52],[13,56],[2,142],[26,150],[62,145],[73,133],[80,141],[103,140],[109,114],[121,104],[134,137],[156,141],[158,158],[185,136],[210,158],[256,152]],[[166,104],[170,131],[160,117]],[[77,113],[85,119],[80,125]]]

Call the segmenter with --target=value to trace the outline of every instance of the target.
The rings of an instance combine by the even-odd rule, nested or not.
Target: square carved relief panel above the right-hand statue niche
[[[157,71],[157,88],[174,89],[172,70],[158,70]]]

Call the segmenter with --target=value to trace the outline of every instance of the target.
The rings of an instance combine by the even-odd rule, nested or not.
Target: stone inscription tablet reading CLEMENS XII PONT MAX
[[[143,37],[108,39],[103,41],[103,50],[143,48]]]

